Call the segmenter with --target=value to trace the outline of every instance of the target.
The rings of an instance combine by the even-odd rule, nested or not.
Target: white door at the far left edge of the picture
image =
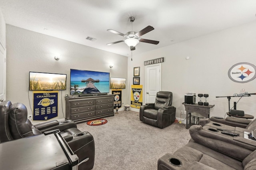
[[[6,49],[0,41],[0,102],[6,100]]]

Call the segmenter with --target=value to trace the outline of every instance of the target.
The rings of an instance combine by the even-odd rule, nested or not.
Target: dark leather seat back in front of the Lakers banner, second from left
[[[10,106],[9,126],[14,139],[41,134],[27,117],[28,111],[24,104],[16,103]]]

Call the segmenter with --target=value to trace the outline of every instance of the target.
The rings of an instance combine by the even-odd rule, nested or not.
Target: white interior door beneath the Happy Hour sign
[[[154,103],[161,91],[161,63],[146,66],[146,103]]]

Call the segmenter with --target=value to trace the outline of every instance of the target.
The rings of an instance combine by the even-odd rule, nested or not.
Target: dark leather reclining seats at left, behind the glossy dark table
[[[54,120],[32,125],[27,116],[28,112],[24,104],[12,104],[10,101],[0,103],[0,143],[59,129],[70,149],[78,156],[78,169],[93,168],[95,145],[94,138],[89,132],[81,132],[72,120],[62,122]]]

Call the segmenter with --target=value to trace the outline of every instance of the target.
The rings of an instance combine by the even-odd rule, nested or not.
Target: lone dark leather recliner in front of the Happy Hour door
[[[161,129],[171,125],[176,112],[176,108],[171,105],[172,92],[157,92],[155,103],[140,106],[140,121]]]

